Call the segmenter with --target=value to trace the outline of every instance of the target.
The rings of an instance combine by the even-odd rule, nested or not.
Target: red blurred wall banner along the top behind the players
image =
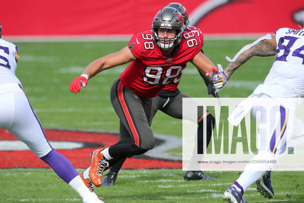
[[[5,36],[133,34],[150,30],[153,16],[169,0],[10,0],[1,2]],[[204,33],[273,33],[297,29],[304,19],[302,0],[179,1]],[[196,12],[195,12],[196,9]],[[206,15],[200,16],[203,13]],[[202,17],[202,18],[201,18]]]

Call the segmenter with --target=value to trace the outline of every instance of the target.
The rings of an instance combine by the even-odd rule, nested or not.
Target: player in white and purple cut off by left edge
[[[47,140],[21,82],[15,75],[19,61],[17,46],[1,39],[0,24],[0,128],[5,128],[49,164],[57,175],[81,196],[83,202],[103,202],[91,192],[72,164],[56,152]]]

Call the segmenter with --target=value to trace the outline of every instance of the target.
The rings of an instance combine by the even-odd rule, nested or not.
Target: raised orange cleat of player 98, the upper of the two
[[[105,146],[102,146],[100,149],[95,149],[91,154],[91,168],[89,170],[89,176],[96,187],[101,186],[102,173],[105,168],[109,166],[108,160],[105,159],[102,154],[102,150],[105,148]]]

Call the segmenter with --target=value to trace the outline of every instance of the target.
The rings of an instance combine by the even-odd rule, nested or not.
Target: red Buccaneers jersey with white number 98
[[[191,32],[183,32],[182,35],[176,53],[166,57],[154,44],[151,30],[135,33],[129,49],[136,61],[131,61],[120,74],[122,84],[144,98],[157,96],[164,86],[179,77],[188,61],[201,50],[198,35]]]

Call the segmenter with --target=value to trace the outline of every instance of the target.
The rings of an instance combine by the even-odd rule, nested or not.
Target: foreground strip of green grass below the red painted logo
[[[2,202],[81,202],[77,193],[51,169],[1,170]],[[239,172],[209,172],[218,181],[185,181],[183,171],[122,170],[113,187],[95,188],[105,202],[224,202],[223,192]],[[244,198],[248,202],[304,202],[303,173],[272,172],[275,197],[260,196],[255,184]],[[9,181],[8,181],[9,180]]]

